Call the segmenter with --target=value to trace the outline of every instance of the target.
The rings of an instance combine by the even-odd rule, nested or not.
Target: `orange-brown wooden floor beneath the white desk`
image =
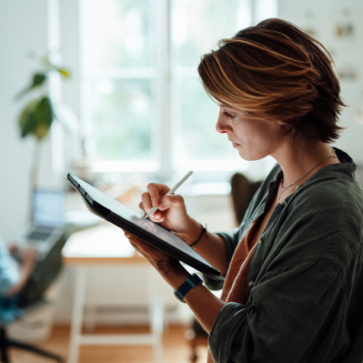
[[[163,363],[189,363],[190,347],[184,339],[184,326],[169,326],[163,334]],[[100,327],[97,333],[148,333],[148,327]],[[69,329],[54,327],[51,337],[39,347],[64,356],[67,362]],[[198,363],[206,362],[206,347],[198,349]],[[49,363],[32,353],[11,350],[12,363]],[[152,346],[81,346],[79,363],[154,363]]]

